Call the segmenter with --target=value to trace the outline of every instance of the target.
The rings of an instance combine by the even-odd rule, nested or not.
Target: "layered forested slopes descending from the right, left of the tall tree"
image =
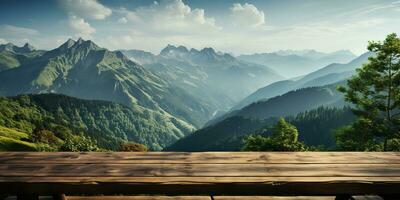
[[[307,145],[334,148],[332,131],[354,120],[351,105],[337,91],[339,85],[368,62],[367,52],[346,64],[329,64],[305,76],[277,81],[249,95],[233,109],[210,120],[204,128],[167,147],[170,151],[237,151],[251,134],[285,117],[299,129]],[[263,128],[264,127],[264,128]]]

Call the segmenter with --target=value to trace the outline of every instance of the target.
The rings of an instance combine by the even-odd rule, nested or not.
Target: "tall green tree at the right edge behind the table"
[[[382,150],[387,151],[389,141],[398,138],[400,130],[400,38],[390,34],[382,42],[369,42],[368,50],[376,56],[357,69],[357,74],[347,81],[347,87],[339,88],[345,100],[355,105],[358,120],[353,128],[342,129],[337,138],[349,139],[352,137],[346,134],[359,134],[369,137],[369,141],[382,143]]]

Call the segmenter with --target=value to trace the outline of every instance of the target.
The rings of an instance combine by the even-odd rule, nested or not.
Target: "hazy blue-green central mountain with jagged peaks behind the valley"
[[[214,109],[214,115],[228,110],[260,86],[282,79],[266,66],[241,61],[212,48],[188,50],[184,46],[168,45],[159,55],[140,50],[122,52],[175,86],[202,99]]]

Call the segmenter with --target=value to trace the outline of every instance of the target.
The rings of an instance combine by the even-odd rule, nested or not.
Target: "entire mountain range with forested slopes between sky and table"
[[[71,131],[92,137],[104,149],[134,141],[151,150],[168,146],[167,150],[237,150],[244,136],[286,117],[303,127],[300,137],[306,143],[331,147],[332,127],[327,122],[313,129],[312,122],[296,118],[321,106],[313,112],[343,114],[330,110],[347,105],[336,87],[345,84],[372,53],[357,58],[348,51],[273,54],[234,57],[210,47],[174,45],[159,54],[110,51],[81,38],[49,51],[30,44],[0,45],[0,96],[5,96],[0,112],[13,122],[3,120],[0,126],[28,137],[41,125],[31,118],[21,122],[21,116],[30,116],[26,111],[38,119],[48,118],[50,130],[70,124]],[[274,59],[279,65],[270,62]],[[303,64],[308,68],[298,59],[307,60]],[[321,67],[324,63],[329,64]],[[313,71],[285,79],[291,75],[282,66],[289,70],[289,65]],[[10,110],[17,114],[9,115]],[[343,116],[350,115],[346,111]],[[343,118],[338,124],[350,120]],[[317,129],[323,130],[321,137],[315,136]]]

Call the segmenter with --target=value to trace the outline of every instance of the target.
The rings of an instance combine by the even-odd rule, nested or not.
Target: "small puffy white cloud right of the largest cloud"
[[[236,26],[256,27],[265,24],[264,11],[257,9],[253,4],[235,3],[230,11],[233,24]]]

